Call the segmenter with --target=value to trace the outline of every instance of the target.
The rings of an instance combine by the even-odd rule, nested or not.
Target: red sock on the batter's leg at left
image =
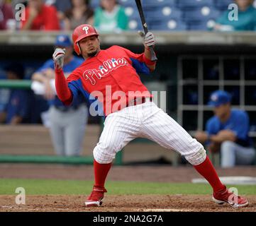
[[[100,164],[94,160],[94,186],[99,186],[104,188],[106,176],[108,175],[108,171],[111,168],[112,162],[107,164]]]

